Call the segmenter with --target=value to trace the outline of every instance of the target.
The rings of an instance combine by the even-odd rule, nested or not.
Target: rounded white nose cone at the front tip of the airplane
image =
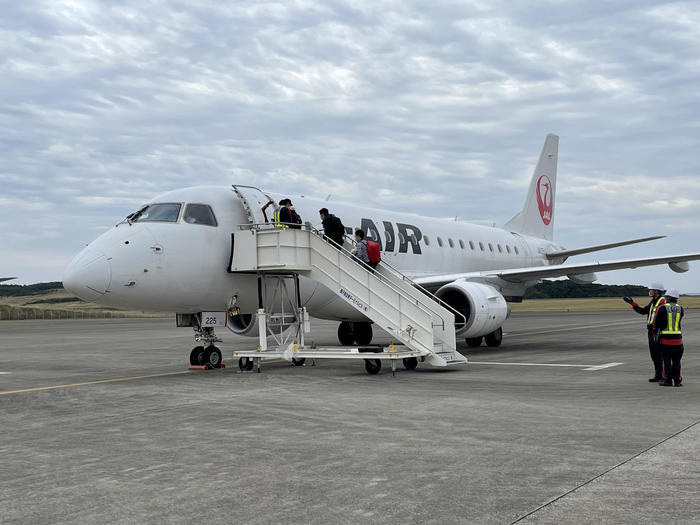
[[[104,253],[88,250],[66,268],[63,287],[86,301],[102,297],[112,281],[112,268]]]

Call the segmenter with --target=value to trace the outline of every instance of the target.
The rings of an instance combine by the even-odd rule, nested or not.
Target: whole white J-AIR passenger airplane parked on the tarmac
[[[346,232],[360,228],[381,245],[382,260],[434,292],[461,312],[457,328],[469,346],[485,340],[498,346],[510,309],[525,289],[541,279],[568,276],[590,283],[596,271],[668,264],[688,271],[700,253],[583,264],[575,255],[644,242],[647,237],[575,250],[553,241],[558,137],[547,135],[522,210],[503,227],[363,208],[294,197],[309,226],[321,228],[319,209],[330,207]],[[241,225],[268,222],[269,203],[288,197],[249,186],[191,187],[154,198],[84,248],[65,270],[63,284],[73,294],[105,306],[198,314],[235,306],[228,328],[258,336],[257,276],[229,272],[232,233]],[[341,344],[367,345],[368,319],[323,285],[300,278],[301,303],[310,315],[340,322]],[[474,323],[475,312],[487,312]]]

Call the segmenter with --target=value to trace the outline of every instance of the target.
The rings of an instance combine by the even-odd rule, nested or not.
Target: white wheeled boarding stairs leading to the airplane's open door
[[[381,262],[372,270],[312,229],[270,224],[241,228],[232,235],[229,270],[256,273],[259,294],[258,347],[233,354],[242,370],[256,366],[260,371],[264,359],[286,359],[295,364],[305,359],[314,363],[324,358],[364,359],[370,374],[378,373],[387,359],[392,373],[399,359],[407,369],[415,368],[418,361],[442,367],[467,362],[456,347],[455,315],[461,314],[421,291],[390,265]],[[333,290],[395,342],[366,347],[306,345],[304,334],[310,331],[310,321],[301,306],[299,276]],[[269,346],[268,336],[274,340]]]

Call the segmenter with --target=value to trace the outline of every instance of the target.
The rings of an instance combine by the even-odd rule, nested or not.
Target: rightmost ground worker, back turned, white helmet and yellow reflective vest
[[[664,380],[660,386],[683,386],[681,383],[681,357],[683,357],[683,336],[681,319],[683,307],[678,304],[678,290],[666,292],[666,303],[659,306],[654,319],[656,347],[664,363]]]

